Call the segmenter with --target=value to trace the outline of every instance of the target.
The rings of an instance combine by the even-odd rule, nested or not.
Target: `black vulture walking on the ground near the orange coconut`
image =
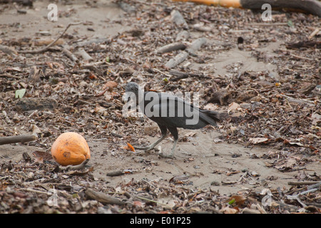
[[[138,105],[148,118],[158,124],[162,133],[159,140],[146,147],[135,147],[137,150],[152,150],[166,138],[167,130],[173,135],[174,145],[171,153],[161,154],[162,157],[173,157],[178,141],[177,128],[200,129],[206,125],[216,126],[216,121],[220,121],[225,115],[197,108],[182,98],[168,93],[143,92],[140,86],[133,82],[127,83],[125,92],[125,101],[131,105]],[[134,108],[136,110],[136,107]]]

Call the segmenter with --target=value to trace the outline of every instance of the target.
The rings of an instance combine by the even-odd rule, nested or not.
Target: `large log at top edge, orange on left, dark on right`
[[[210,6],[234,7],[243,9],[262,9],[263,4],[270,4],[272,9],[290,9],[304,11],[321,17],[321,2],[316,0],[174,0],[191,1]]]

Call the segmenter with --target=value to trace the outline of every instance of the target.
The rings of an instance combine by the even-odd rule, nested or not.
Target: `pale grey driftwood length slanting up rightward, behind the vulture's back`
[[[193,43],[188,46],[188,48],[185,49],[185,51],[179,53],[174,58],[171,58],[167,63],[165,63],[166,68],[174,68],[175,66],[178,66],[178,64],[185,61],[186,58],[188,58],[188,55],[195,56],[195,51],[198,51],[203,44],[206,43],[206,38],[198,38],[197,40],[193,41]]]

